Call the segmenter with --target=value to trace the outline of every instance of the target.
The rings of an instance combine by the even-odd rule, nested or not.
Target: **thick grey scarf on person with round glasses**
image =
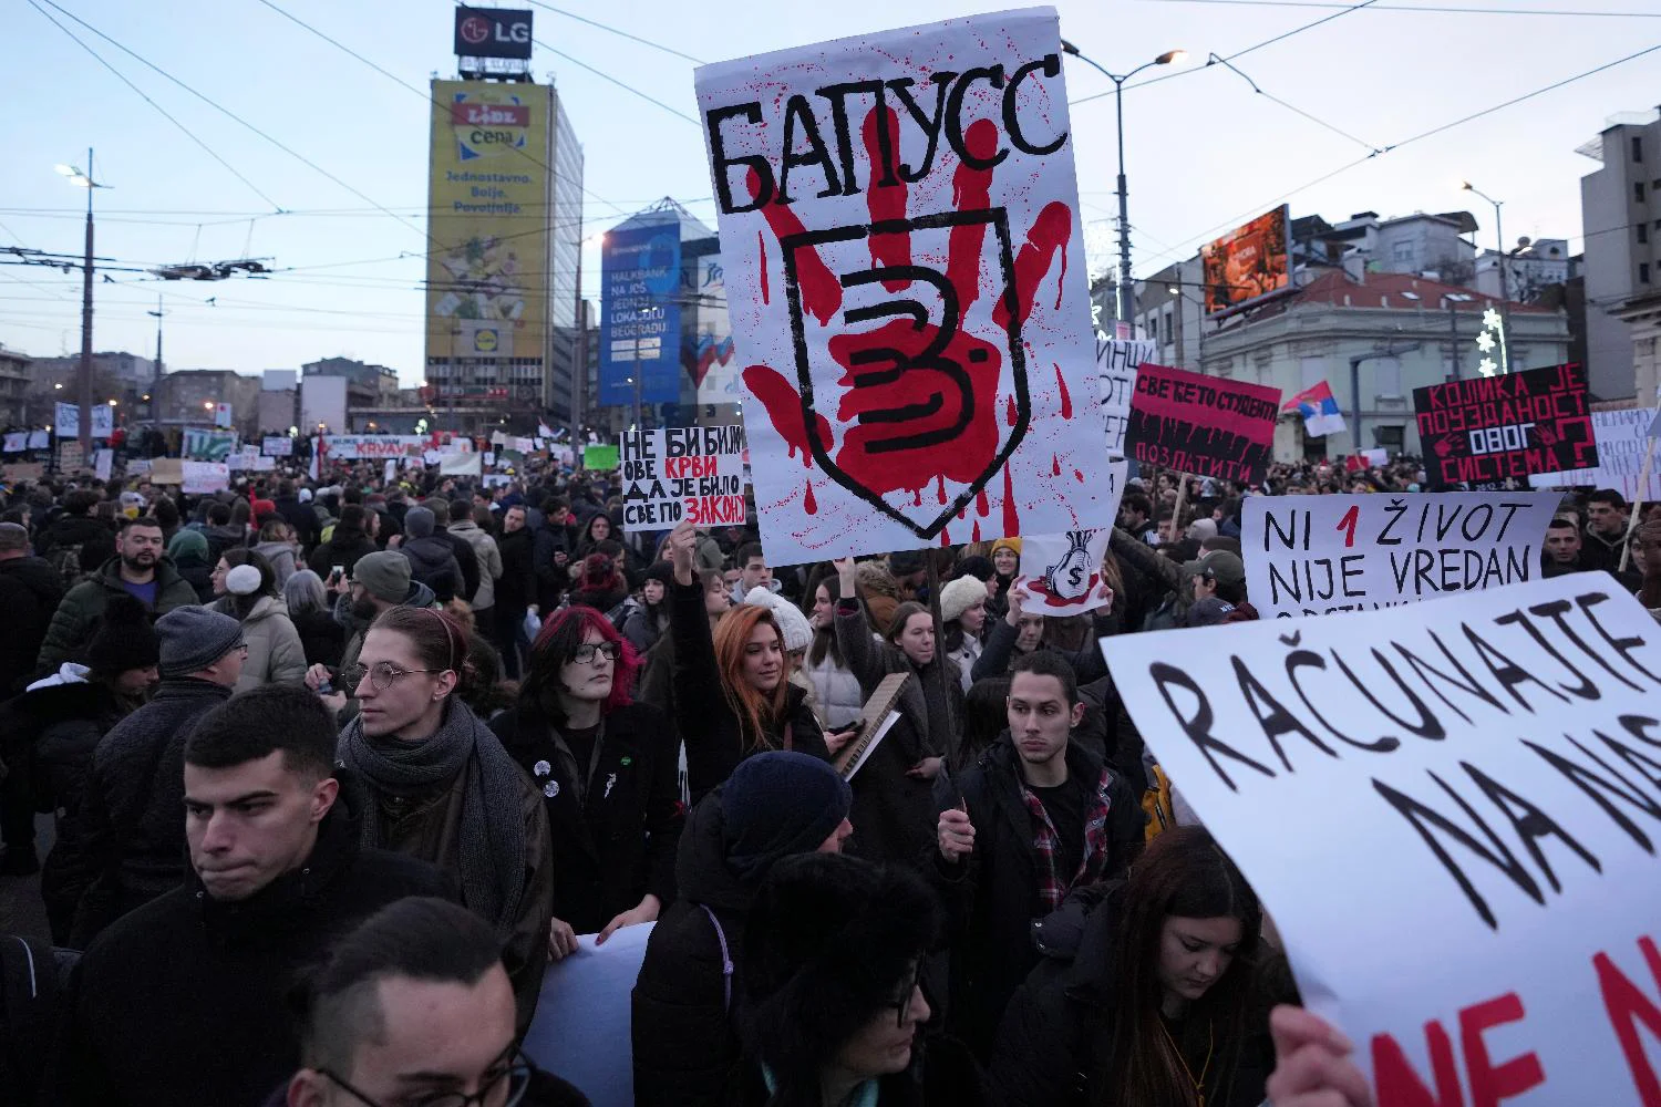
[[[372,792],[412,795],[448,787],[467,773],[462,798],[462,900],[467,908],[513,933],[525,891],[525,770],[495,734],[453,695],[437,734],[425,742],[364,737],[362,719],[341,730],[341,763]],[[380,846],[380,820],[364,820],[364,845]]]

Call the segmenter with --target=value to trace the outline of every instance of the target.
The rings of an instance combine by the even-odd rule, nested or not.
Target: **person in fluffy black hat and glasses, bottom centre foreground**
[[[924,1041],[933,891],[904,866],[806,853],[777,861],[744,938],[744,1059],[726,1104],[977,1107],[968,1052]]]

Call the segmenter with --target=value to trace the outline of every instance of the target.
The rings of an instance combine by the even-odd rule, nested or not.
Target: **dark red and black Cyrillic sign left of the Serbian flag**
[[[1269,471],[1281,390],[1143,363],[1124,451],[1144,465],[1256,483]]]

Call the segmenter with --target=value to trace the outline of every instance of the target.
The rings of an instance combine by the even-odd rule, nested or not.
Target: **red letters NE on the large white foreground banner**
[[[1505,1022],[1521,1022],[1523,1014],[1523,1001],[1516,992],[1485,999],[1458,1012],[1470,1107],[1498,1107],[1500,1102],[1545,1084],[1546,1074],[1536,1054],[1526,1052],[1495,1066],[1488,1057],[1488,1044],[1482,1037],[1487,1031]],[[1435,1019],[1425,1022],[1425,1041],[1430,1047],[1435,1092],[1425,1087],[1402,1046],[1392,1036],[1374,1036],[1372,1070],[1379,1107],[1465,1107],[1453,1042],[1442,1022]],[[1644,1107],[1651,1105],[1644,1104]]]

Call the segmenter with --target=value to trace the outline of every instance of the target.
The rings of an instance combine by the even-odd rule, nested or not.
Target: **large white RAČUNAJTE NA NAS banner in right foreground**
[[[1661,1097],[1658,646],[1601,573],[1101,642],[1379,1107]]]

